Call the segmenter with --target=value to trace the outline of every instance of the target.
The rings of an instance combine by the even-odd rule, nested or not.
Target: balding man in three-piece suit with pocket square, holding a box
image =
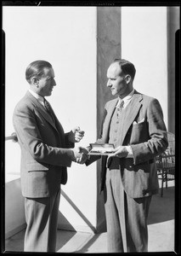
[[[148,212],[159,189],[155,157],[167,148],[160,103],[133,89],[135,73],[133,64],[121,59],[107,71],[107,86],[118,97],[105,104],[97,143],[115,147],[102,156],[101,173],[109,253],[148,251]],[[86,165],[98,158],[91,155]]]

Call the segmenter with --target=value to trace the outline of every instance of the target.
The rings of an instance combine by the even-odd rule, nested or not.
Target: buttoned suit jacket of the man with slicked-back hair
[[[68,133],[55,124],[29,91],[14,108],[13,123],[21,148],[21,189],[25,197],[48,197],[67,181],[71,166]]]

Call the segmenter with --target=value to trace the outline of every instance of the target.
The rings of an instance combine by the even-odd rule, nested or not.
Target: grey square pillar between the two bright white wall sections
[[[121,8],[97,7],[97,137],[100,135],[105,103],[113,99],[107,88],[110,62],[121,57]],[[99,194],[101,161],[97,161],[97,231],[105,230],[103,193]]]

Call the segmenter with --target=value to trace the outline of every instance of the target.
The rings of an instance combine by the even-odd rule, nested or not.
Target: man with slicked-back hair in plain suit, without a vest
[[[30,89],[14,108],[13,123],[21,148],[21,189],[25,197],[26,252],[55,252],[60,184],[66,167],[83,160],[79,127],[65,133],[45,96],[56,85],[48,61],[33,61],[25,71]]]

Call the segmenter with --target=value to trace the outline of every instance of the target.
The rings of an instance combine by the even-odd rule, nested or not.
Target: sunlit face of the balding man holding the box
[[[113,96],[127,96],[127,82],[125,80],[125,75],[122,74],[122,69],[118,63],[113,63],[110,65],[107,71],[107,86],[110,88]]]

